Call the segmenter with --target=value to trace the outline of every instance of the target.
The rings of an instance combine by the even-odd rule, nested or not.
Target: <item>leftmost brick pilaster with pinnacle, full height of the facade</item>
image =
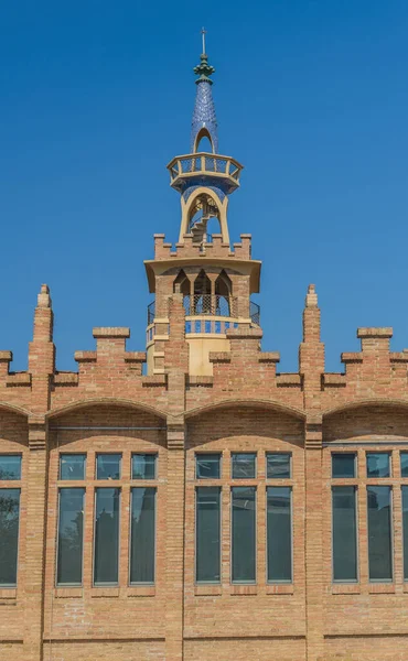
[[[34,315],[34,336],[29,348],[32,415],[29,419],[26,481],[26,556],[24,594],[24,661],[43,660],[43,602],[47,486],[50,379],[54,372],[53,312],[49,288],[43,284]]]

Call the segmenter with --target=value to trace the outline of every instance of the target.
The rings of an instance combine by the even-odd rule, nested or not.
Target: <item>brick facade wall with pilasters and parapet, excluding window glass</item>
[[[405,661],[408,586],[402,572],[399,452],[408,448],[408,354],[390,353],[389,328],[359,328],[362,350],[344,373],[324,371],[320,311],[309,288],[297,373],[279,373],[260,349],[260,329],[227,332],[230,350],[212,354],[212,377],[189,373],[181,295],[168,301],[162,373],[144,376],[144,353],[126,351],[127,328],[95,328],[95,353],[77,353],[78,372],[54,364],[46,286],[35,310],[28,372],[0,355],[0,453],[22,454],[17,588],[0,589],[1,661]],[[353,447],[358,472],[357,583],[332,582],[331,462]],[[365,452],[391,453],[394,581],[369,583]],[[128,585],[130,453],[158,453],[154,586]],[[194,581],[195,452],[223,455],[222,581]],[[60,452],[87,454],[83,587],[55,587]],[[95,587],[95,453],[122,453],[120,570],[117,587]],[[257,581],[233,585],[232,451],[258,456]],[[266,582],[267,451],[289,451],[293,472],[293,583]],[[378,480],[372,480],[378,484]],[[150,484],[150,483],[149,483]],[[211,484],[211,483],[208,483]],[[350,480],[336,480],[350,484]],[[77,486],[79,483],[69,483]],[[2,487],[10,486],[2,483]]]

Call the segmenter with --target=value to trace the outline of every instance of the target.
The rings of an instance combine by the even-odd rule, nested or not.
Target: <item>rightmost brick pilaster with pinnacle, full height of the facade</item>
[[[324,345],[320,342],[320,310],[310,285],[303,311],[303,342],[299,350],[303,379],[305,437],[305,607],[307,659],[323,658],[323,522],[321,378]]]

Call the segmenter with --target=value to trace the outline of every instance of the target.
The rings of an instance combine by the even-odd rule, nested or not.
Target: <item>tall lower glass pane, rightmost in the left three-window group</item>
[[[131,489],[130,583],[154,583],[155,489]]]

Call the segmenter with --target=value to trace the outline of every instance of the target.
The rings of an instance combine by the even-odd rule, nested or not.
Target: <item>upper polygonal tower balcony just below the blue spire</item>
[[[183,193],[193,185],[205,185],[203,177],[210,185],[216,185],[226,194],[233,193],[239,186],[239,175],[243,165],[230,156],[222,156],[207,152],[175,156],[169,165],[170,185]]]

